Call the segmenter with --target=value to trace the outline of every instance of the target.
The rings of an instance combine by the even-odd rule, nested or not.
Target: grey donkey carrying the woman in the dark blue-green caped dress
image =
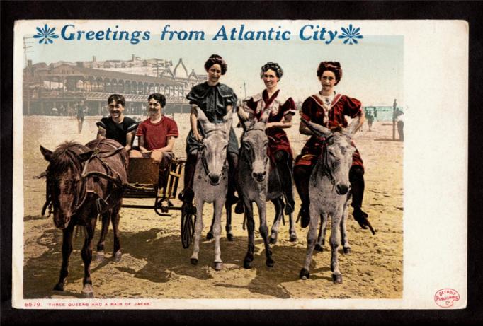
[[[222,208],[225,204],[228,190],[228,163],[227,146],[229,129],[232,127],[232,115],[230,110],[225,116],[224,122],[212,123],[200,108],[198,121],[203,127],[205,138],[200,144],[198,161],[196,162],[193,179],[193,191],[195,192],[196,222],[195,240],[193,242],[193,255],[191,264],[198,264],[198,252],[200,252],[200,236],[203,231],[203,204],[213,203],[213,235],[215,236],[215,269],[222,269],[223,262],[220,250],[221,217]]]

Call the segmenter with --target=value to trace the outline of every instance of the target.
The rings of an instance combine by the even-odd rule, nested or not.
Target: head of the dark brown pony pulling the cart
[[[54,223],[57,228],[66,228],[75,214],[75,205],[79,201],[82,162],[92,151],[83,152],[81,144],[66,142],[52,152],[40,146],[40,152],[47,166],[47,201],[53,207]]]

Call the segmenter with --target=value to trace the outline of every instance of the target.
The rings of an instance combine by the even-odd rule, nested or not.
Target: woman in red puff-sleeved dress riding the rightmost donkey
[[[334,91],[342,77],[341,64],[339,62],[321,62],[317,69],[317,77],[322,85],[319,93],[309,96],[302,104],[300,115],[305,120],[320,124],[326,128],[347,127],[346,116],[358,120],[356,129],[364,123],[364,114],[361,110],[360,101],[356,98],[349,98],[346,95]],[[310,135],[302,153],[295,159],[293,170],[297,192],[302,199],[300,209],[300,223],[302,228],[307,227],[310,221],[309,216],[309,179],[312,169],[320,156],[324,140],[320,139],[310,131],[305,124],[300,124],[301,134]],[[352,158],[352,167],[349,172],[351,182],[353,216],[362,228],[367,228],[365,218],[368,217],[362,209],[364,195],[364,165],[360,153],[356,151]]]

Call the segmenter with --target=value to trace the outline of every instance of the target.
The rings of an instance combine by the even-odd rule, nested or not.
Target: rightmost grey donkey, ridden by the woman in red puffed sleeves
[[[342,129],[331,132],[331,130],[313,122],[307,122],[303,119],[301,122],[307,124],[317,136],[324,137],[325,144],[309,181],[310,224],[307,233],[307,256],[304,267],[300,270],[299,277],[300,279],[308,279],[310,276],[309,266],[316,245],[319,216],[322,218],[321,230],[325,228],[327,219],[331,216],[331,237],[329,242],[331,245],[332,280],[334,283],[342,283],[337,250],[339,248],[340,228],[344,252],[350,252],[345,219],[351,190],[349,170],[352,165],[353,153],[356,151],[356,148],[351,143],[353,132],[346,134],[342,132]],[[351,124],[355,123],[357,121]],[[349,131],[354,129],[353,125],[348,127]],[[319,235],[319,240],[321,236]]]

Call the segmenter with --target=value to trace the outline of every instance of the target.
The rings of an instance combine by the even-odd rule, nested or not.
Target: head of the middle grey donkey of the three
[[[251,166],[251,176],[257,182],[263,182],[268,172],[266,122],[245,122],[244,126],[242,156]]]

